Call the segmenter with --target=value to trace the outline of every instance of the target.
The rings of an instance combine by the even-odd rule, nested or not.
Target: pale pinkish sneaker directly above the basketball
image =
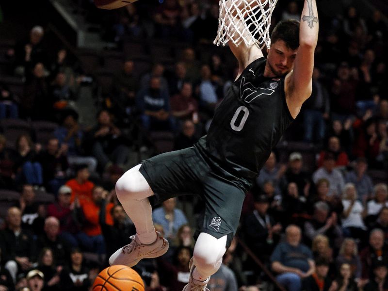
[[[141,259],[157,258],[164,255],[168,250],[169,243],[159,232],[156,232],[156,234],[157,239],[151,244],[143,244],[139,241],[137,234],[132,235],[130,237],[132,242],[115,251],[109,258],[109,264],[111,266],[126,265],[133,267]]]

